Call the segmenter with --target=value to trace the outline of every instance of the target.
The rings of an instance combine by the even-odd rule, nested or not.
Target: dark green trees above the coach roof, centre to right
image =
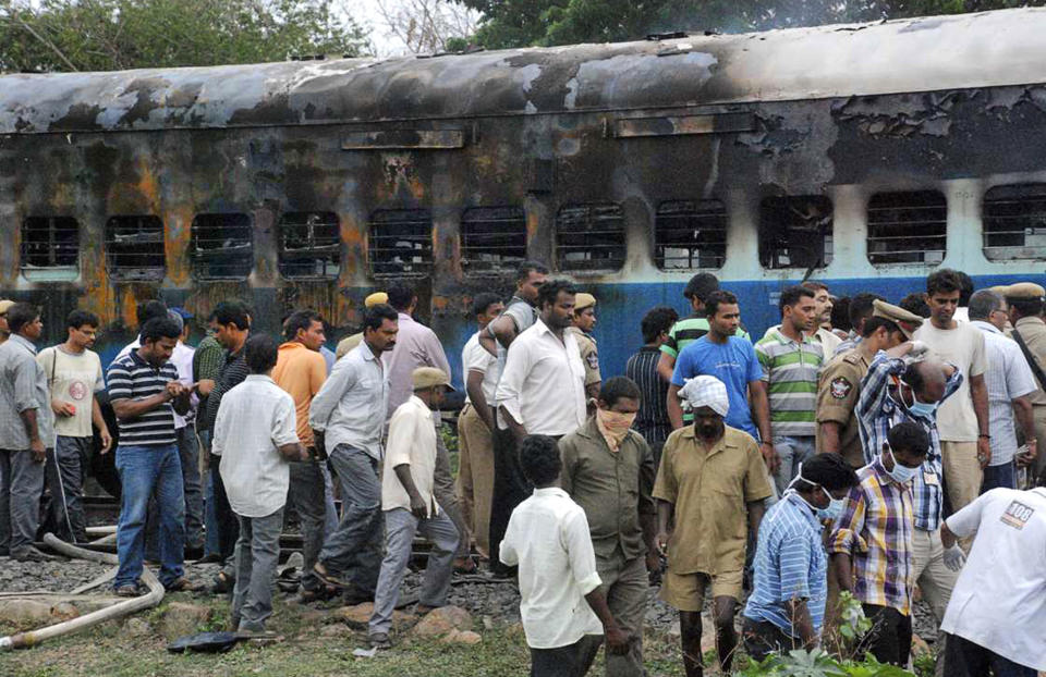
[[[491,49],[620,41],[648,33],[741,33],[788,26],[960,14],[1046,0],[461,0],[482,13]]]

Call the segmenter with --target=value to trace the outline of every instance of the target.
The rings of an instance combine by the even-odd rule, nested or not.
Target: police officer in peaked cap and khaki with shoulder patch
[[[817,453],[840,454],[854,469],[866,465],[853,414],[861,396],[861,380],[876,353],[911,340],[923,323],[917,315],[886,301],[876,299],[873,306],[861,343],[828,362],[817,385]]]

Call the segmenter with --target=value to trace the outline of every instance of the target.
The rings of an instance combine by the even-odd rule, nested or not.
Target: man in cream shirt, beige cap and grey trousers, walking
[[[392,612],[400,596],[400,584],[411,562],[414,534],[421,532],[429,543],[425,582],[415,610],[417,615],[443,606],[453,574],[458,529],[435,496],[436,428],[433,411],[439,410],[450,377],[433,367],[419,367],[412,374],[414,395],[404,402],[389,421],[385,471],[381,475],[381,510],[385,513],[385,559],[374,594],[370,616],[370,645],[388,649]]]

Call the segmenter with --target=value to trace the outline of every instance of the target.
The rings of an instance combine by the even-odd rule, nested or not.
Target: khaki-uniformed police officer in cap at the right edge
[[[1032,282],[1020,282],[1004,287],[999,293],[1010,306],[1010,323],[1013,324],[1010,337],[1021,346],[1038,385],[1038,390],[1030,395],[1035,418],[1035,438],[1036,441],[1046,440],[1046,321],[1043,319],[1046,290]],[[1031,454],[1037,444],[1029,443],[1027,446]],[[1018,463],[1021,463],[1020,458]],[[1034,469],[1037,478],[1046,480],[1044,450],[1036,451]]]

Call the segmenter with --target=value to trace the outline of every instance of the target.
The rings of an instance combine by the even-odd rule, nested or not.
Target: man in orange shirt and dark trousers
[[[320,464],[326,454],[317,451],[308,426],[308,407],[327,379],[327,362],[319,353],[326,341],[324,320],[313,310],[300,310],[283,323],[283,338],[285,343],[280,346],[272,380],[294,398],[297,439],[308,451],[308,460],[291,463],[287,507],[294,509],[301,521],[305,557],[302,601],[312,602],[324,596],[324,586],[313,574],[313,566],[324,545],[326,494]]]

